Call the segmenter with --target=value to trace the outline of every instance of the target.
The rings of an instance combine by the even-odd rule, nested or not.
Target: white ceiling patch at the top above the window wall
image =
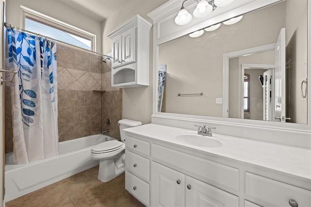
[[[59,0],[99,21],[104,21],[129,0]]]

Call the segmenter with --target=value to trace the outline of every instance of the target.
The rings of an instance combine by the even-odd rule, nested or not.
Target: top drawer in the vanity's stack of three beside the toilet
[[[140,155],[150,156],[150,142],[148,141],[126,136],[125,146],[132,152],[136,152]]]

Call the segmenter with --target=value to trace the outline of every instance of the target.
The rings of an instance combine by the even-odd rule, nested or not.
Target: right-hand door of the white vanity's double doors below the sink
[[[186,175],[186,207],[239,207],[239,197]]]

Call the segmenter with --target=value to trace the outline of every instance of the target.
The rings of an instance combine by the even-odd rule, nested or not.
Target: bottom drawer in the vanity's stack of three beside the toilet
[[[132,173],[125,171],[125,189],[128,190],[140,202],[149,206],[150,187],[145,181],[139,179]]]

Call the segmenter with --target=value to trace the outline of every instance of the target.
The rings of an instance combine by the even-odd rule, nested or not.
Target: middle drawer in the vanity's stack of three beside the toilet
[[[150,178],[150,160],[125,150],[125,167],[127,170],[138,175],[138,177],[149,181]]]

